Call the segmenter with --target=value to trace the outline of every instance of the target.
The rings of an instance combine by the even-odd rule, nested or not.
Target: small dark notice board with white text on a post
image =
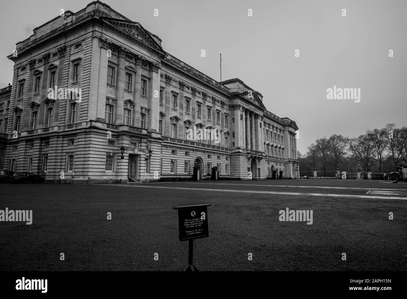
[[[193,240],[209,237],[208,204],[182,205],[178,210],[179,240],[188,240],[188,268],[185,271],[199,271],[193,264]]]

